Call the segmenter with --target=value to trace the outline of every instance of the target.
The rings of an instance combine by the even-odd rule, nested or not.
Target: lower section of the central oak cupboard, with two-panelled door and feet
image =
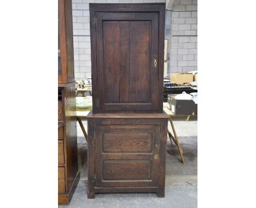
[[[88,116],[88,198],[104,192],[164,197],[166,114],[150,119],[106,115]]]

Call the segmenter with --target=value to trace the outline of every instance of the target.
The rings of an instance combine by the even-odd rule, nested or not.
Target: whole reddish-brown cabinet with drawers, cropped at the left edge
[[[79,181],[71,0],[59,0],[58,27],[58,202],[69,204]]]

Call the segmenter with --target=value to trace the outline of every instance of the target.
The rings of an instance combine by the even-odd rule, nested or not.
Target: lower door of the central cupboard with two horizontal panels
[[[158,185],[159,125],[98,125],[95,133],[96,187]]]

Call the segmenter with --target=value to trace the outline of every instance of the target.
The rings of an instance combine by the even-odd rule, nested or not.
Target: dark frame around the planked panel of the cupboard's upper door
[[[97,45],[97,89],[100,92],[100,98],[98,98],[100,102],[100,109],[102,112],[109,111],[157,111],[158,110],[158,102],[156,97],[158,97],[158,84],[154,85],[155,77],[158,77],[158,66],[154,67],[154,54],[158,54],[158,13],[96,13],[97,25],[96,25],[96,45]],[[121,23],[123,21],[129,22],[129,24],[134,24],[133,22],[149,22],[149,60],[148,60],[148,101],[147,102],[108,102],[106,99],[106,89],[107,89],[107,78],[104,67],[106,66],[106,62],[111,62],[111,60],[106,60],[103,53],[107,50],[104,46],[104,40],[106,40],[103,28],[106,26],[104,21],[112,22],[112,23]],[[133,21],[133,22],[132,22]],[[121,39],[121,37],[120,37]],[[121,40],[120,40],[121,41]],[[121,43],[120,43],[121,44]],[[130,42],[131,46],[131,42]],[[103,53],[102,53],[103,51]],[[131,56],[131,54],[130,54]],[[121,56],[119,55],[119,63],[121,63]],[[158,58],[156,57],[158,62]],[[130,66],[130,64],[129,64]],[[116,82],[120,82],[121,78],[121,68],[117,73]],[[127,70],[126,70],[127,71]],[[114,80],[112,80],[114,82]],[[127,88],[131,88],[132,83],[131,78],[129,80],[129,85]],[[121,82],[118,84],[120,86]],[[123,84],[123,83],[122,83]],[[120,96],[121,92],[118,86],[118,95],[115,98]],[[111,93],[111,92],[110,92]],[[114,93],[114,91],[113,91]],[[136,97],[136,95],[135,95]]]

